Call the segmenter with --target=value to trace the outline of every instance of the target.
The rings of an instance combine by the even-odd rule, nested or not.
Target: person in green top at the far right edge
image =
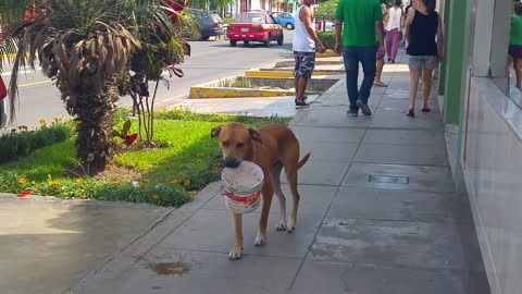
[[[514,4],[514,14],[511,16],[511,32],[509,35],[508,66],[513,65],[515,86],[522,90],[522,2]]]

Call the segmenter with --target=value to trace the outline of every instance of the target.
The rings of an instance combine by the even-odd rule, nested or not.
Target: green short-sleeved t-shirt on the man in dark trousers
[[[344,22],[343,46],[372,46],[383,10],[378,0],[340,0],[335,19]]]

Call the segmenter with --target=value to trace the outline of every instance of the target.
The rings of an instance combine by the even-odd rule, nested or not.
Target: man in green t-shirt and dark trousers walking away
[[[372,115],[368,98],[375,79],[376,58],[385,53],[381,3],[378,0],[340,0],[335,19],[335,52],[339,56],[343,53],[345,60],[346,87],[350,100],[348,114],[357,117],[361,109],[362,114]],[[375,35],[378,36],[378,45],[375,45]],[[364,72],[360,89],[357,88],[359,62]]]

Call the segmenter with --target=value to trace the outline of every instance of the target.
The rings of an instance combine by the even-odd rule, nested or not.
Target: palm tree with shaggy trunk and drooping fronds
[[[164,0],[4,0],[0,20],[9,25],[0,57],[16,48],[16,56],[3,54],[13,62],[11,119],[18,71],[39,60],[77,122],[78,158],[94,172],[103,170],[113,159],[115,101],[119,84],[129,84],[130,64],[166,68],[189,50],[165,10]]]

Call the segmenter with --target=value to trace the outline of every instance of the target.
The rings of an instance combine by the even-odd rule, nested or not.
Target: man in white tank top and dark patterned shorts
[[[315,50],[326,51],[326,47],[321,42],[313,26],[313,12],[310,9],[315,0],[303,0],[297,9],[296,27],[294,34],[294,59],[296,66],[294,71],[294,84],[296,87],[296,107],[308,107],[304,101],[304,90],[308,79],[312,77],[315,68]]]

